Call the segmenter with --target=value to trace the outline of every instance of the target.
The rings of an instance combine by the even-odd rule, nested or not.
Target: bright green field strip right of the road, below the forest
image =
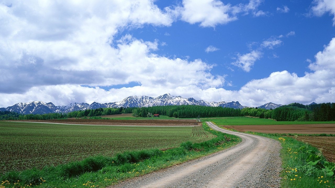
[[[335,123],[334,121],[276,121],[273,119],[253,117],[202,118],[201,121],[213,121],[217,125],[296,125]]]

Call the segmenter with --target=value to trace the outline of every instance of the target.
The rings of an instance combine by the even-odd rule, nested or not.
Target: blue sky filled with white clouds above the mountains
[[[334,0],[0,0],[0,107],[335,102]]]

